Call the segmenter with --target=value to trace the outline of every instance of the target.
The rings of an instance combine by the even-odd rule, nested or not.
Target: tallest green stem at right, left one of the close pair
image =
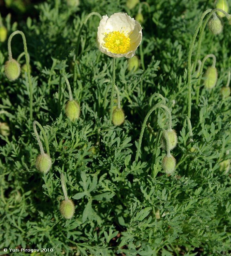
[[[193,34],[193,37],[192,37],[192,41],[191,41],[191,44],[190,44],[190,47],[189,47],[189,53],[188,53],[188,117],[191,118],[191,57],[192,57],[192,50],[193,50],[193,46],[195,44],[195,41],[196,41],[196,37],[197,37],[197,34],[198,34],[198,31],[201,27],[201,24],[202,24],[202,21],[205,17],[205,15],[209,12],[211,12],[212,9],[208,9],[206,10],[205,12],[202,13],[201,15],[201,18],[199,20],[199,23],[196,27],[196,30]],[[194,63],[197,63],[197,62],[194,62]],[[196,65],[195,65],[196,66]]]

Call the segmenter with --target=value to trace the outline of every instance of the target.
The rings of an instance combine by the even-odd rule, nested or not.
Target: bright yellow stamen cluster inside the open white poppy
[[[106,47],[111,53],[124,54],[128,52],[130,47],[130,38],[123,32],[119,31],[105,33],[104,47]]]

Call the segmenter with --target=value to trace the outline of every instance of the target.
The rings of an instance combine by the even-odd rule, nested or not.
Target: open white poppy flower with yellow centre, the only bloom
[[[131,58],[142,40],[141,25],[127,13],[104,15],[97,32],[99,49],[110,57]]]

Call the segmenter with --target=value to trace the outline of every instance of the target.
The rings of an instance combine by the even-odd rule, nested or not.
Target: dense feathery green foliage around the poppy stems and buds
[[[40,151],[29,119],[28,76],[13,82],[5,76],[5,41],[0,45],[0,122],[9,125],[10,135],[0,134],[0,248],[53,248],[45,254],[57,256],[229,255],[230,165],[222,161],[231,159],[231,97],[220,94],[231,66],[228,21],[223,19],[219,37],[205,28],[200,59],[216,55],[218,79],[214,88],[200,88],[196,104],[195,85],[203,75],[192,75],[191,136],[186,121],[188,49],[201,13],[213,8],[212,1],[142,4],[143,41],[136,55],[141,61],[143,55],[145,69],[129,71],[127,59],[116,59],[116,86],[126,117],[115,127],[109,124],[112,59],[98,50],[99,17],[84,22],[91,12],[135,17],[141,3],[130,10],[122,0],[80,2],[70,8],[66,1],[47,0],[36,6],[38,19],[31,16],[18,24],[12,24],[10,15],[2,19],[8,36],[16,29],[25,33],[33,120],[45,130],[52,167],[47,174],[35,168]],[[23,43],[16,35],[13,58],[21,52]],[[19,63],[24,65],[25,58]],[[64,114],[69,94],[60,79],[63,73],[80,104],[80,117],[73,122]],[[168,106],[178,136],[171,152],[176,158],[173,175],[162,169],[166,152],[160,143],[155,150],[159,128],[168,128],[168,116],[160,109],[148,119],[139,161],[134,161],[144,117],[156,103]],[[42,132],[39,136],[45,146]],[[59,211],[64,199],[60,173],[75,204],[71,219]]]

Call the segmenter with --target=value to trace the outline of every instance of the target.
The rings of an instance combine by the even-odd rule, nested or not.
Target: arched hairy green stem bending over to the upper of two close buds
[[[157,108],[162,108],[164,109],[167,113],[168,113],[168,116],[169,116],[169,129],[172,129],[172,115],[171,115],[171,112],[169,110],[169,108],[163,104],[156,104],[154,105],[147,113],[147,115],[145,116],[144,118],[144,122],[142,124],[142,127],[141,127],[141,132],[140,132],[140,138],[139,138],[139,142],[138,142],[138,148],[136,150],[136,155],[135,155],[135,161],[138,162],[138,158],[139,158],[139,153],[140,153],[140,148],[141,148],[141,142],[142,142],[142,138],[143,138],[143,134],[144,134],[144,129],[145,129],[145,126],[146,126],[146,123],[147,123],[147,120],[149,118],[149,116],[151,115],[151,113],[157,109]],[[168,140],[167,140],[168,141]],[[169,147],[170,148],[170,147]]]

